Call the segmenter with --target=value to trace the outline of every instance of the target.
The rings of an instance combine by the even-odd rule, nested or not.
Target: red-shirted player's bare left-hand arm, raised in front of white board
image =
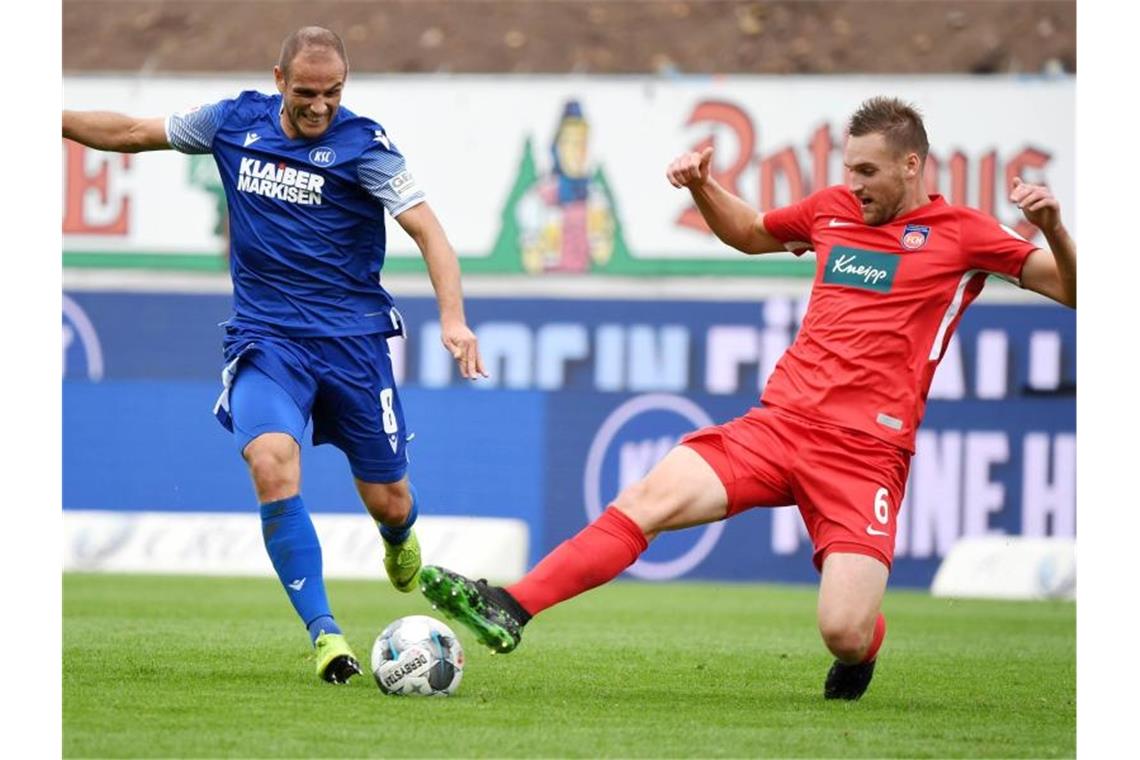
[[[712,179],[712,148],[683,153],[665,171],[673,187],[685,187],[714,235],[743,253],[783,251],[783,243],[764,229],[764,214],[725,190]]]

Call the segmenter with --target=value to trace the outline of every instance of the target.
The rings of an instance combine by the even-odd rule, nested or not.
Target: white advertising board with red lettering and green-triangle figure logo
[[[164,116],[271,88],[268,71],[68,76],[64,104]],[[653,262],[734,259],[694,221],[687,193],[666,181],[675,155],[712,145],[722,183],[757,207],[785,205],[844,180],[847,119],[876,95],[923,113],[931,190],[1017,227],[1007,189],[1020,174],[1053,188],[1075,231],[1075,89],[1073,77],[353,74],[343,103],[385,126],[458,253],[495,260],[487,271],[652,273]],[[211,161],[67,141],[64,150],[65,251],[215,255],[225,246]],[[390,230],[390,255],[415,256],[402,230]],[[557,244],[544,243],[552,237]]]

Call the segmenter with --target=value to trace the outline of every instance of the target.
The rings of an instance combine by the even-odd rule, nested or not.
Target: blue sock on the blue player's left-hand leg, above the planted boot
[[[301,495],[261,505],[261,536],[296,614],[316,640],[324,630],[340,634],[325,596],[320,542]]]

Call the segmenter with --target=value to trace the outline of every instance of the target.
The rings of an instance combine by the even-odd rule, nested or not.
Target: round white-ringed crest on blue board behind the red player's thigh
[[[610,412],[589,446],[583,489],[591,522],[618,493],[645,476],[685,433],[712,424],[699,406],[678,395],[650,393],[629,399]],[[678,578],[712,551],[724,523],[701,530],[667,532],[628,570],[645,580]]]

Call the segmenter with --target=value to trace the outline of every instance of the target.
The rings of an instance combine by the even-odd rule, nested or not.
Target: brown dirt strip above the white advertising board
[[[369,73],[1076,71],[1074,0],[64,0],[63,68],[264,71],[308,24]]]

